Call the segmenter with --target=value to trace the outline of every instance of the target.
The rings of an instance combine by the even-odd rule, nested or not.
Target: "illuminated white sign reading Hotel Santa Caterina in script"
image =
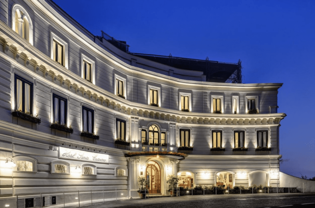
[[[64,147],[59,147],[59,158],[100,163],[108,163],[109,161],[108,155],[105,154],[82,151],[78,149],[69,149]]]

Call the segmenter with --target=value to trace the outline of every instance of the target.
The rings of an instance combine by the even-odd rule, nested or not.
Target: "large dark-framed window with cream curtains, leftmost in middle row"
[[[23,79],[18,75],[15,75],[14,79],[16,110],[32,114],[33,83]]]

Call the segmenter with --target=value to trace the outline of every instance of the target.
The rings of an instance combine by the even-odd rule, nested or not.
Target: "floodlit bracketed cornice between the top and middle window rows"
[[[151,119],[157,121],[175,122],[181,124],[198,124],[198,125],[279,125],[280,121],[286,116],[284,113],[274,114],[209,114],[183,112],[179,110],[170,110],[159,108],[159,111],[152,110],[149,105],[130,102],[120,98],[104,89],[97,87],[91,83],[87,83],[82,77],[75,75],[70,70],[57,64],[55,61],[44,55],[37,48],[32,46],[25,39],[20,37],[15,31],[12,31],[8,25],[0,21],[0,40],[4,39],[4,53],[10,56],[11,63],[18,65],[23,70],[29,72],[40,79],[43,83],[52,83],[59,86],[60,90],[68,90],[78,97],[86,98],[90,102],[98,104],[110,111],[119,112],[120,114],[137,116],[141,119]],[[14,41],[17,40],[17,41]],[[22,45],[20,45],[20,42]],[[15,51],[9,53],[10,50]],[[16,57],[20,57],[20,53],[24,53],[24,65],[16,62]],[[32,65],[30,64],[32,63]],[[239,85],[241,86],[241,85]],[[239,87],[238,86],[238,87]],[[276,86],[276,84],[275,84]],[[255,87],[255,86],[253,86]],[[139,122],[138,119],[132,119],[133,122]],[[176,124],[170,124],[170,127],[176,127]]]

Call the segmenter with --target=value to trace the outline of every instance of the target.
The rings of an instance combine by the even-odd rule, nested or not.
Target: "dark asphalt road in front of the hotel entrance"
[[[292,194],[224,194],[224,195],[198,195],[180,196],[152,199],[130,199],[120,201],[107,201],[105,203],[83,205],[84,208],[314,208],[315,193]]]

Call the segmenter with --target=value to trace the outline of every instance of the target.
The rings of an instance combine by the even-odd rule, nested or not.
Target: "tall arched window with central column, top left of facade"
[[[12,29],[33,45],[33,25],[26,10],[18,4],[12,9]]]

